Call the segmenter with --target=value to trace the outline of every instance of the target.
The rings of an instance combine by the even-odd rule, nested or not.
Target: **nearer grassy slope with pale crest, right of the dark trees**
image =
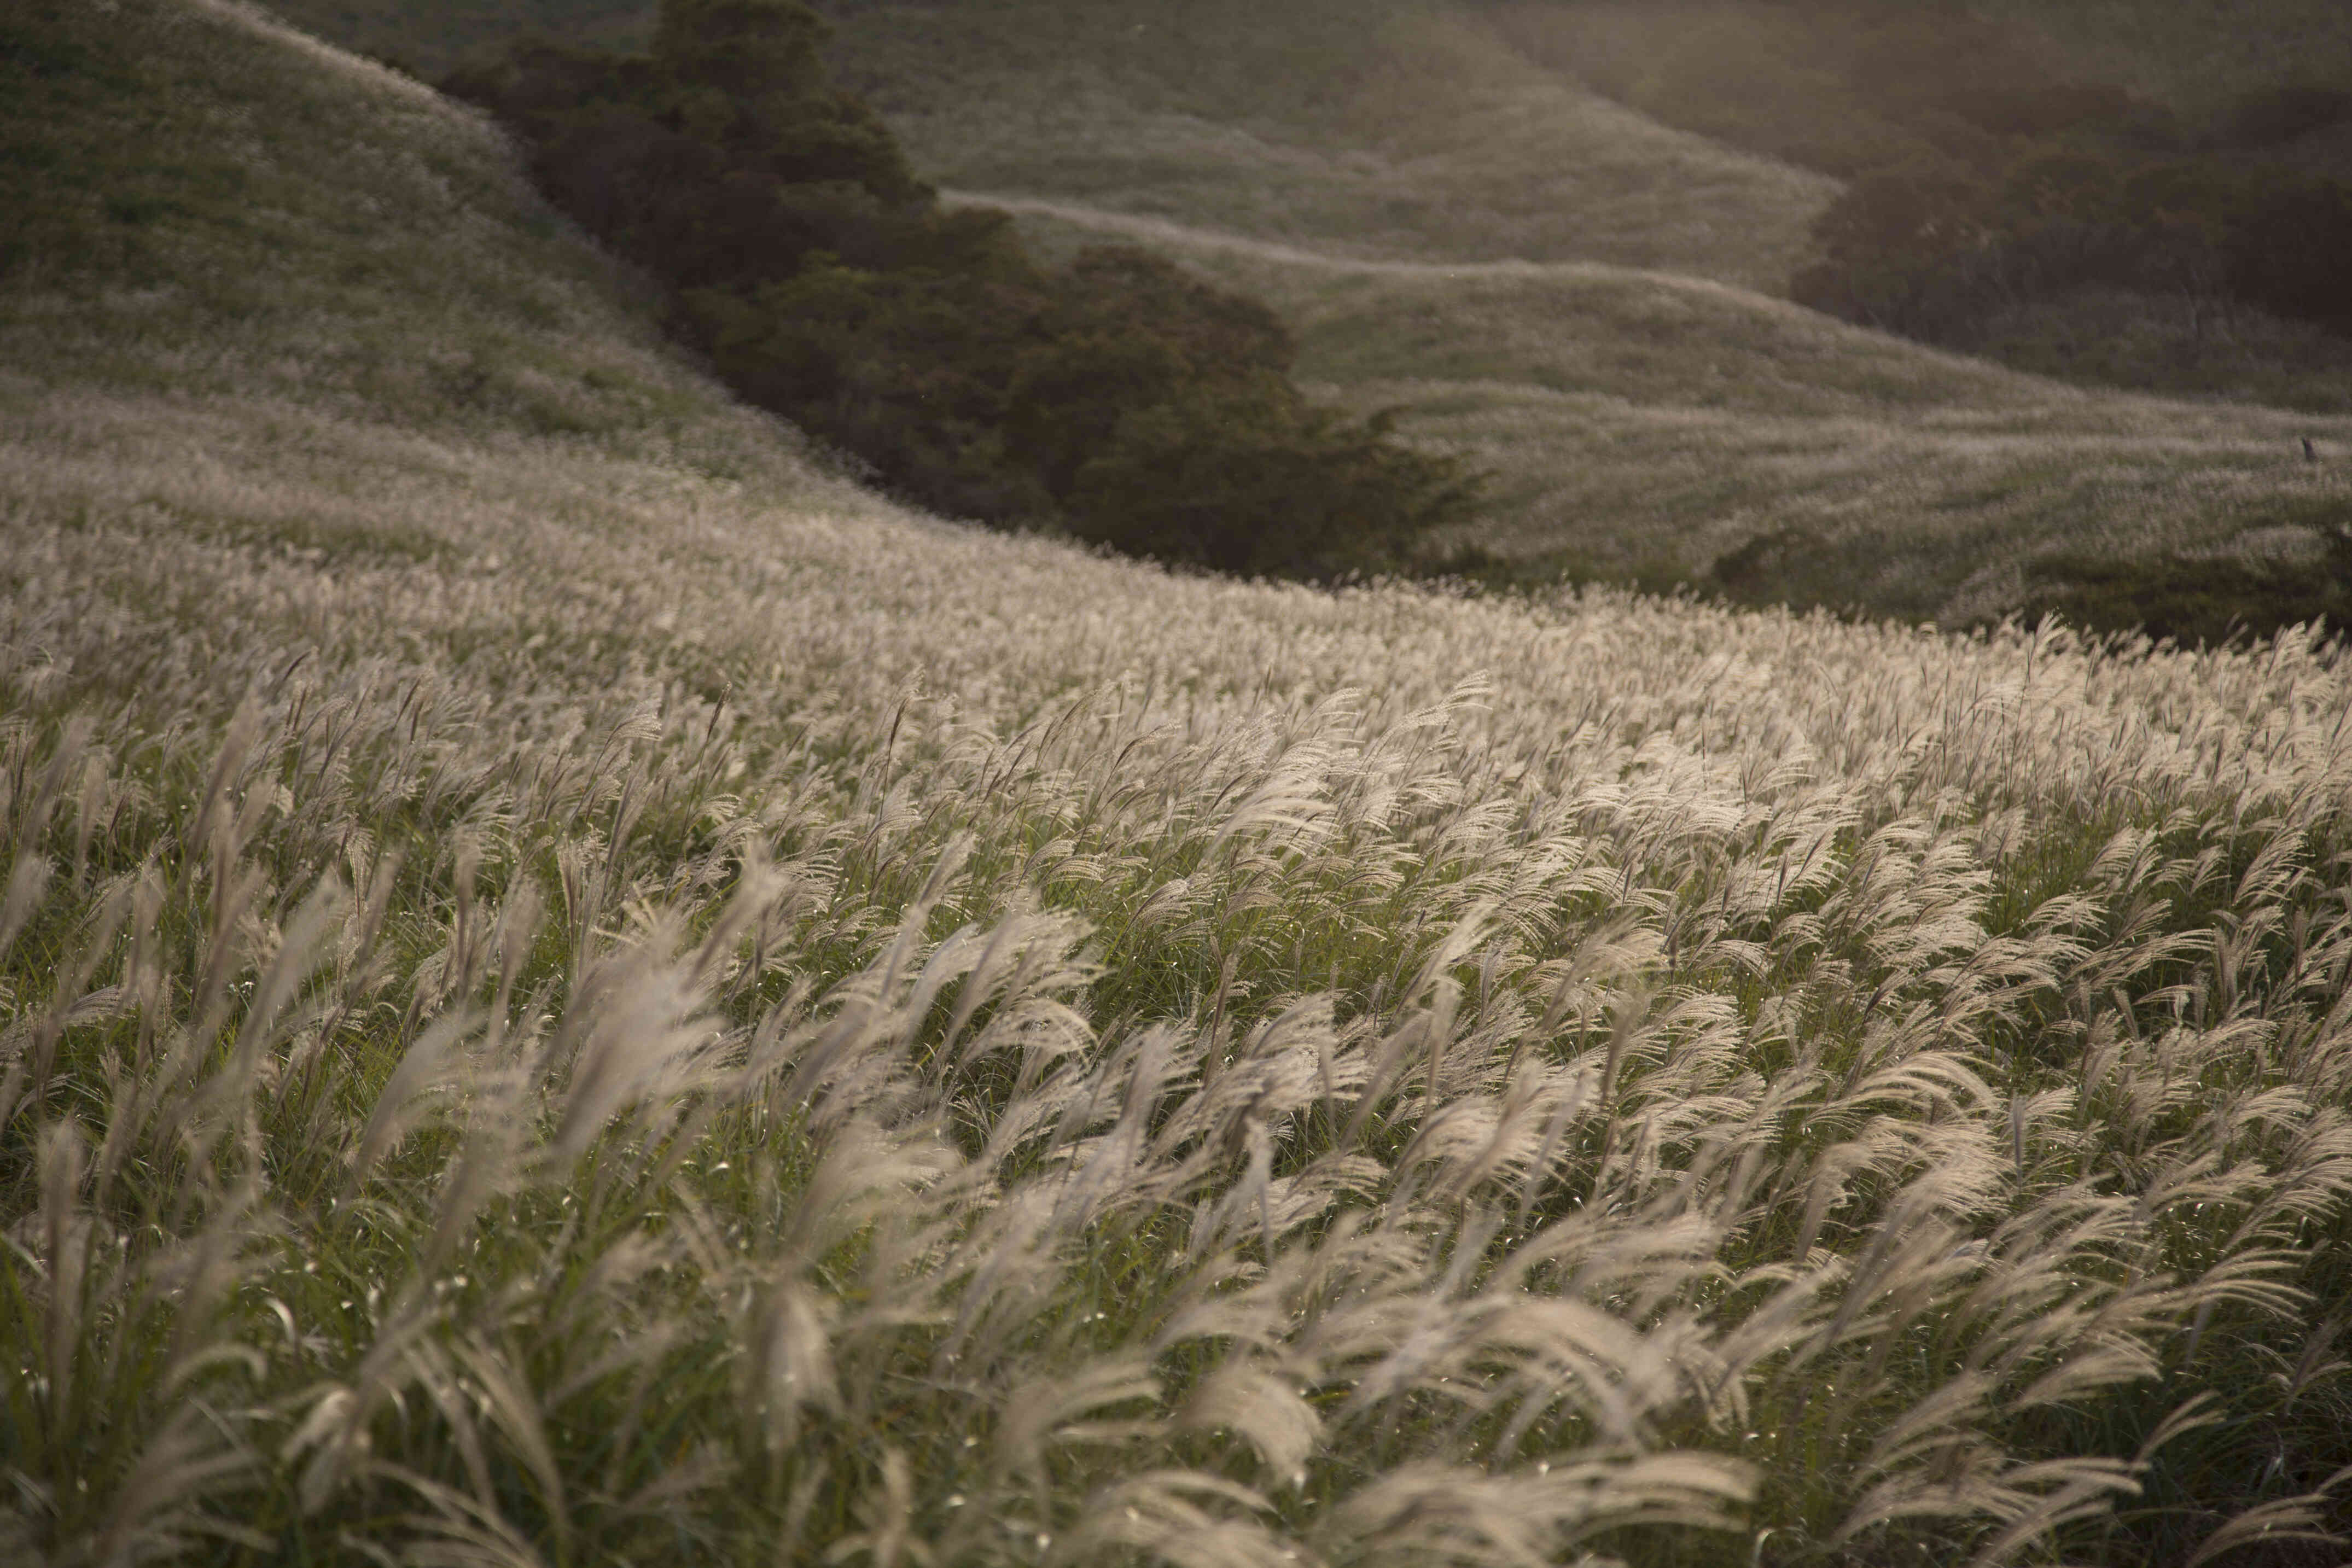
[[[1303,378],[1496,475],[1468,538],[1515,559],[1959,625],[2058,557],[2296,562],[2352,517],[2343,416],[2072,388],[1672,273],[1364,261],[969,200],[1040,242],[1155,244],[1275,303]]]

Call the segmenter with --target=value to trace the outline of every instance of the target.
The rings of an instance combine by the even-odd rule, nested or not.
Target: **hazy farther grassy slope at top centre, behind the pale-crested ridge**
[[[1409,261],[1611,261],[1776,289],[1835,181],[1632,115],[1468,12],[823,5],[946,186]]]

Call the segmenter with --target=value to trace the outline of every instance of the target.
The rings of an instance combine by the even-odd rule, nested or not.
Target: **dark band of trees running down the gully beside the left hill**
[[[1411,559],[1477,484],[1381,418],[1315,409],[1261,303],[1160,256],[1063,268],[948,209],[828,80],[800,0],[663,0],[649,54],[515,45],[445,87],[550,200],[659,277],[746,400],[927,508],[1221,571]]]

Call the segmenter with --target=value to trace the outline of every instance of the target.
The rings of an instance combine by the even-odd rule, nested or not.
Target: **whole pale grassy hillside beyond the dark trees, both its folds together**
[[[1303,376],[1496,475],[1472,543],[1522,569],[1966,623],[2086,564],[2291,567],[2352,508],[2345,411],[2077,390],[1788,308],[1835,183],[1618,108],[1468,9],[833,21],[931,179],[1025,202],[1044,247],[1143,237],[1275,301]]]

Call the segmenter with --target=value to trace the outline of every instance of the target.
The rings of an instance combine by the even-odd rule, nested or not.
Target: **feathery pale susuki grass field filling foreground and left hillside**
[[[7,303],[0,1556],[2331,1561],[2333,649],[908,517],[456,110],[12,26],[270,207]]]

